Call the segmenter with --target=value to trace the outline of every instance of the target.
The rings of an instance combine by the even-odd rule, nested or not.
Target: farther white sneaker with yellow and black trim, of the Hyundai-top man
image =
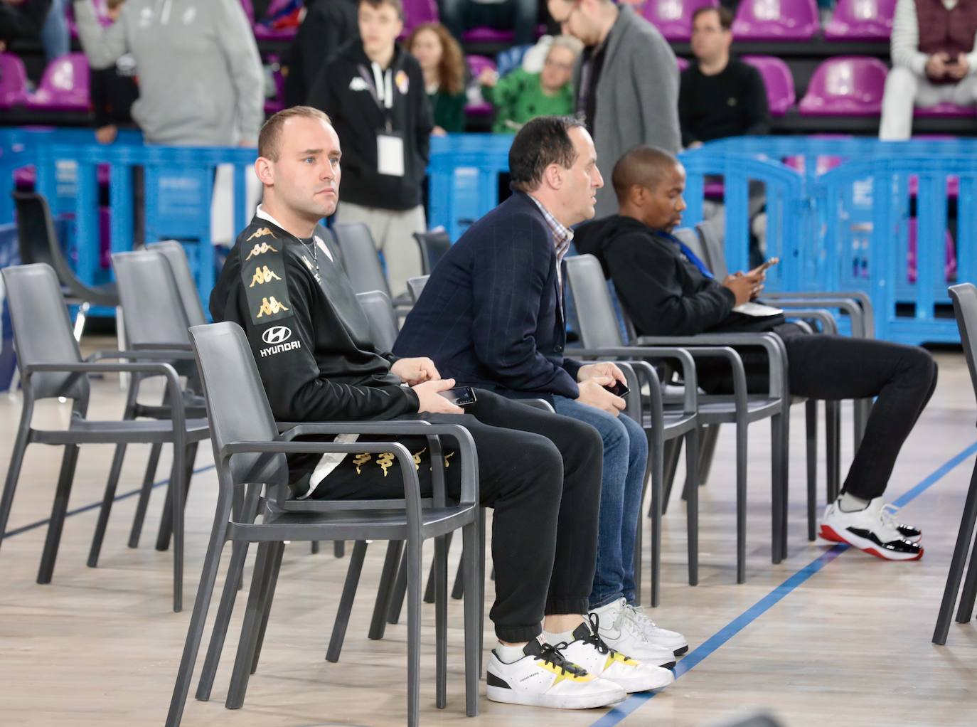
[[[573,662],[585,668],[588,673],[601,679],[614,682],[625,692],[649,692],[667,687],[675,681],[675,675],[668,669],[641,663],[615,651],[601,639],[598,617],[591,614],[590,622],[583,622],[573,631],[573,641],[557,644],[556,649]]]

